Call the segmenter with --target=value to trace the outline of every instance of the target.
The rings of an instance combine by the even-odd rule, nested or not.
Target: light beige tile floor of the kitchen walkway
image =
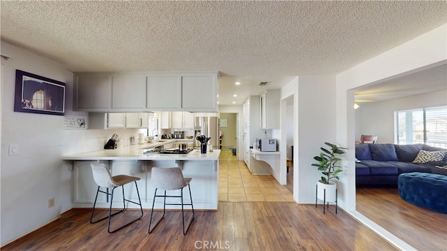
[[[251,175],[231,150],[221,150],[219,201],[293,201],[293,194],[272,175]]]

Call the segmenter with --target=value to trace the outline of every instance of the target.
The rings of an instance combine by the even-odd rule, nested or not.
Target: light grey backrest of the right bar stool
[[[151,183],[163,190],[177,190],[188,185],[178,167],[152,167]]]

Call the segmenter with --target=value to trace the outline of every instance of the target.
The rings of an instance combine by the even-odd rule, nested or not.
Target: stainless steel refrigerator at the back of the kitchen
[[[219,149],[219,117],[194,117],[194,148],[200,148],[200,142],[196,140],[197,136],[205,135],[211,137],[208,145],[212,149]]]

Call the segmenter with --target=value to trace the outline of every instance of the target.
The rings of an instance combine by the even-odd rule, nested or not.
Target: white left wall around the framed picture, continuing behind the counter
[[[15,70],[66,83],[66,115],[72,111],[73,73],[63,65],[1,42],[1,246],[57,219],[71,208],[71,172],[61,167],[62,155],[103,148],[113,133],[135,130],[63,129],[64,116],[14,112]],[[137,135],[138,136],[138,135]],[[17,144],[18,155],[8,155]],[[54,198],[54,207],[47,201]],[[24,218],[25,217],[25,218]],[[26,219],[26,220],[24,220]]]

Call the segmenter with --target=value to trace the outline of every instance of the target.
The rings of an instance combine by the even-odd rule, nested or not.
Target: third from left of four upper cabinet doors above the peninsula
[[[181,108],[181,76],[149,75],[147,77],[147,108],[178,110]]]

